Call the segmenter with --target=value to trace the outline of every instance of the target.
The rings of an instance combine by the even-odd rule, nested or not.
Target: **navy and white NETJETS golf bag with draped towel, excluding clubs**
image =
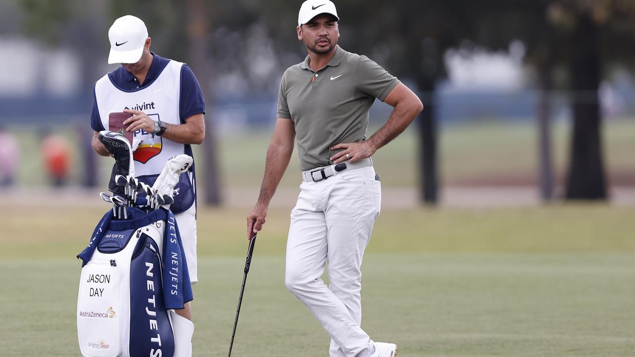
[[[171,357],[172,320],[183,318],[170,309],[192,300],[178,227],[169,211],[127,210],[128,220],[106,213],[77,256],[79,347],[85,357]]]

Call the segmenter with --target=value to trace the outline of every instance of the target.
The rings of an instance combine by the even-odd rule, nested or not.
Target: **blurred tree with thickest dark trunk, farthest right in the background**
[[[632,61],[635,3],[568,0],[549,5],[552,26],[569,39],[573,133],[566,198],[606,199],[599,84],[610,65]]]

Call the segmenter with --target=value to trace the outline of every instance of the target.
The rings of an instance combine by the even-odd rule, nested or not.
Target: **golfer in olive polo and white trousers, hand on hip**
[[[248,234],[262,229],[297,139],[303,182],[291,211],[286,286],[330,334],[331,357],[394,357],[396,344],[373,342],[360,327],[360,267],[381,204],[371,156],[423,105],[368,57],[342,50],[338,20],[328,0],[307,0],[300,8],[297,35],[309,55],[281,79],[276,128],[260,196],[247,216]],[[375,98],[394,110],[366,138]],[[330,286],[321,280],[326,262]]]

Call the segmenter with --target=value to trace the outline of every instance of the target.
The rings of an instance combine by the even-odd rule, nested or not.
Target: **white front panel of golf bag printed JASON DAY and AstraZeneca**
[[[110,260],[88,262],[82,269],[77,300],[77,335],[85,357],[121,354],[123,272]]]

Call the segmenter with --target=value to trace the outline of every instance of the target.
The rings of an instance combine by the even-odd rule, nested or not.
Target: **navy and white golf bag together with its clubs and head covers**
[[[175,313],[193,299],[187,261],[170,205],[192,157],[169,159],[152,186],[135,178],[130,142],[114,131],[98,139],[114,156],[112,204],[82,260],[77,335],[84,357],[190,357],[194,325]],[[139,195],[141,194],[141,195]]]

